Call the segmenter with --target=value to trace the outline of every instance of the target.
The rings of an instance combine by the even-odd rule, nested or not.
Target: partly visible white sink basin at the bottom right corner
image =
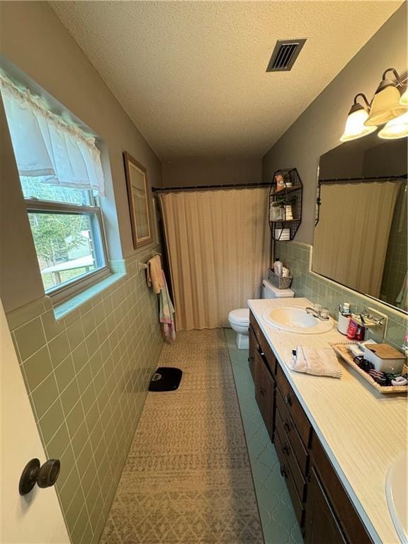
[[[385,479],[385,494],[392,523],[402,544],[408,544],[408,456],[407,452],[390,466]]]

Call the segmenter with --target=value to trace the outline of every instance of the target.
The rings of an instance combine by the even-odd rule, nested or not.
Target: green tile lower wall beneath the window
[[[145,272],[113,268],[125,273],[62,319],[48,297],[7,316],[73,544],[99,540],[163,345]]]

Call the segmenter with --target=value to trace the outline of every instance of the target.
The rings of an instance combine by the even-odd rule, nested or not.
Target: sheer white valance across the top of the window
[[[69,125],[1,72],[0,90],[20,176],[103,195],[101,154],[94,137]]]

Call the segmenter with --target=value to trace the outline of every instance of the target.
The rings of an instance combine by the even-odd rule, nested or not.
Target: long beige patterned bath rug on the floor
[[[101,544],[263,544],[224,331],[180,332],[159,365],[174,392],[149,392]]]

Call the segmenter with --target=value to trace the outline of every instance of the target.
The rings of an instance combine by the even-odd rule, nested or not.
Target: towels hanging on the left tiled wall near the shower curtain
[[[162,270],[162,260],[159,255],[147,261],[147,285],[159,295],[159,322],[162,326],[164,340],[171,344],[176,339],[174,326],[174,306],[171,302],[166,276]]]

